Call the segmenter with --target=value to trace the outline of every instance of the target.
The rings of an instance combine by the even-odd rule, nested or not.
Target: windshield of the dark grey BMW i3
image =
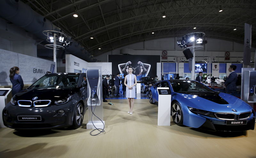
[[[74,88],[77,85],[79,75],[69,75],[69,74],[47,74],[41,79],[38,79],[31,87],[36,89],[62,89],[62,88]]]

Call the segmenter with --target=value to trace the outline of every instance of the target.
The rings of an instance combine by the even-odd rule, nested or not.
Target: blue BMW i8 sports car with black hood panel
[[[254,130],[255,112],[239,98],[212,90],[197,81],[163,80],[149,88],[149,102],[158,102],[157,87],[171,90],[175,124],[211,131]]]

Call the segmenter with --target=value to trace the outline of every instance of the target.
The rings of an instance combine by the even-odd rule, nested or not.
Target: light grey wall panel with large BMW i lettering
[[[54,62],[0,49],[0,86],[12,85],[9,74],[13,66],[20,68],[24,84],[32,84],[49,71]]]

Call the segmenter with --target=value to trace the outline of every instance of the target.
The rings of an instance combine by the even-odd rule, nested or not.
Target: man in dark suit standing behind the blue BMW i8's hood
[[[230,74],[224,84],[224,88],[226,88],[227,93],[229,94],[234,93],[236,91],[237,74],[235,70],[236,70],[236,65],[230,65],[228,68],[228,71],[230,72]]]

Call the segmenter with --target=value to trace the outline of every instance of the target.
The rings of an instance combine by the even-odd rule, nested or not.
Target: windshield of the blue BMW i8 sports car
[[[171,81],[174,92],[214,92],[207,86],[196,81]]]

